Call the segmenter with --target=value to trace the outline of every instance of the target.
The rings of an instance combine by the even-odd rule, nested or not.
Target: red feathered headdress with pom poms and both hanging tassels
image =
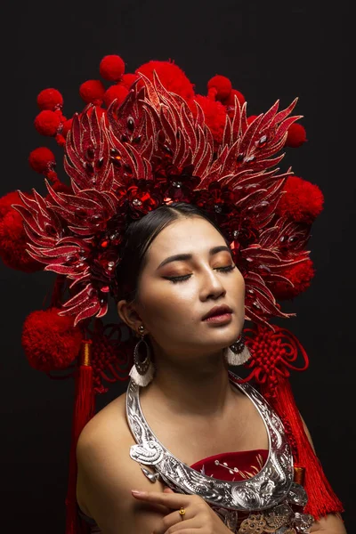
[[[76,399],[70,457],[66,532],[78,530],[77,437],[94,413],[94,393],[104,382],[128,377],[131,355],[117,325],[104,325],[109,296],[117,296],[117,265],[127,225],[174,201],[210,214],[231,244],[246,283],[247,361],[263,394],[283,418],[295,463],[306,468],[307,512],[315,517],[342,511],[304,433],[287,380],[303,347],[271,324],[287,318],[278,301],[309,287],[314,269],[307,244],[322,210],[318,186],[280,173],[286,147],[305,142],[296,100],[247,115],[244,96],[214,76],[206,96],[173,62],[150,61],[125,74],[118,56],[106,56],[101,77],[80,87],[87,103],[73,118],[62,114],[54,89],[38,95],[40,134],[64,149],[69,183],[55,172],[53,152],[39,148],[29,163],[45,176],[48,190],[14,191],[0,199],[0,252],[8,266],[57,273],[48,309],[25,320],[22,344],[34,368],[47,373],[74,366]],[[13,242],[16,240],[16,247]],[[311,475],[311,476],[309,476]]]

